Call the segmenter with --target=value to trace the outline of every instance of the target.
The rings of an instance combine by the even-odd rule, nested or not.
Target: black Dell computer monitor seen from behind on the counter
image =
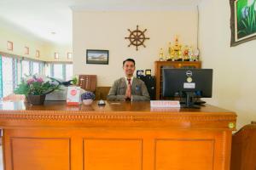
[[[162,69],[163,97],[179,97],[183,107],[196,107],[195,99],[212,97],[212,69]]]

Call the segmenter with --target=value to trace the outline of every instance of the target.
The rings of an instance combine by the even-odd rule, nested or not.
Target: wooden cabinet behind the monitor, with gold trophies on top
[[[156,99],[162,98],[162,68],[201,68],[201,61],[155,61],[154,76],[156,79]]]

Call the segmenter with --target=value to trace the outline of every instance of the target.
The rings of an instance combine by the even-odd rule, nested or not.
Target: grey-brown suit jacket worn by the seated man
[[[113,82],[113,86],[110,88],[108,93],[108,100],[124,101],[126,88],[127,84],[125,82],[125,77],[119,78]],[[145,83],[135,77],[133,77],[131,84],[131,99],[132,101],[143,101],[150,99]]]

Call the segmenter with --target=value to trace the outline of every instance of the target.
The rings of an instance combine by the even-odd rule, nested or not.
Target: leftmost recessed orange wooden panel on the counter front
[[[11,138],[13,169],[70,169],[69,139]]]

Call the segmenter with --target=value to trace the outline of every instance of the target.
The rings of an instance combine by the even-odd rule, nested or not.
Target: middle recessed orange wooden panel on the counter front
[[[142,170],[142,139],[84,139],[84,169]]]

